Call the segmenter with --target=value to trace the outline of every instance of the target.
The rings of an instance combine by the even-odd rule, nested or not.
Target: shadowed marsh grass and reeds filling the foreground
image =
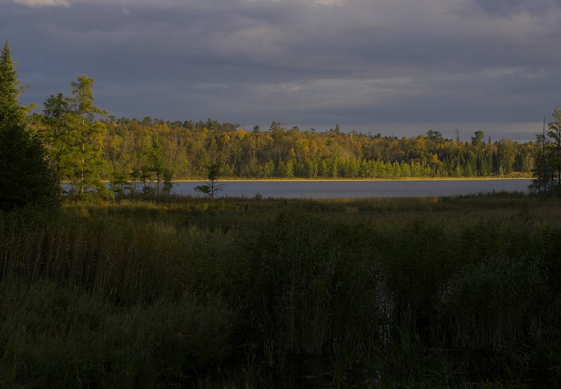
[[[0,216],[0,386],[561,385],[561,202]]]

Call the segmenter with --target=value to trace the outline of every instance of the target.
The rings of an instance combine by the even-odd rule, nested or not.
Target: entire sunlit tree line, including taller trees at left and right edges
[[[561,137],[555,123],[536,142],[520,143],[486,140],[482,130],[468,142],[461,141],[458,132],[455,139],[446,139],[438,130],[398,138],[342,132],[339,125],[317,132],[273,121],[269,128],[255,125],[248,130],[210,118],[198,122],[115,118],[95,105],[94,80],[86,75],[70,83],[69,95],[50,95],[40,113],[29,115],[30,107],[18,102],[23,89],[7,42],[0,85],[0,124],[25,128],[34,142],[39,140],[55,182],[74,198],[125,192],[158,197],[170,193],[174,179],[201,179],[210,167],[231,178],[534,175],[538,191],[561,184],[557,139]],[[561,120],[558,109],[554,116]]]

